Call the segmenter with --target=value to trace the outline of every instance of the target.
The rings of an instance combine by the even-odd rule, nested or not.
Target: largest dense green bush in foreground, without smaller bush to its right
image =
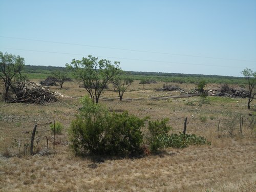
[[[70,139],[75,152],[129,155],[141,152],[141,128],[146,119],[127,112],[110,113],[90,98],[82,99],[80,114],[71,122]]]

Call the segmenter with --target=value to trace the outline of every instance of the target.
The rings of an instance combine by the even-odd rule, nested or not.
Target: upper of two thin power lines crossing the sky
[[[176,54],[176,53],[164,53],[164,52],[135,50],[135,49],[122,49],[122,48],[113,48],[113,47],[104,47],[104,46],[93,46],[93,45],[83,45],[83,44],[73,44],[73,43],[69,43],[69,42],[38,40],[38,39],[19,38],[19,37],[8,37],[8,36],[0,36],[0,37],[2,37],[2,38],[11,38],[11,39],[20,39],[20,40],[29,40],[29,41],[38,41],[38,42],[50,42],[50,43],[53,43],[53,44],[62,44],[62,45],[75,45],[75,46],[94,47],[94,48],[101,48],[101,49],[114,49],[114,50],[122,50],[122,51],[133,51],[133,52],[141,52],[141,53],[156,53],[156,54],[176,55],[176,56],[186,56],[186,57],[199,57],[199,58],[209,58],[209,59],[221,59],[221,60],[233,60],[233,61],[244,61],[244,62],[256,62],[254,60],[232,59],[232,58],[221,58],[221,57],[208,57],[208,56]]]

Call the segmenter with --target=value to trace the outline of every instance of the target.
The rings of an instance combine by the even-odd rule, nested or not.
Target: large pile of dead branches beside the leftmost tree
[[[50,101],[57,101],[56,95],[45,87],[37,86],[35,83],[26,82],[24,88],[16,92],[16,97],[11,103],[26,102],[44,105]]]

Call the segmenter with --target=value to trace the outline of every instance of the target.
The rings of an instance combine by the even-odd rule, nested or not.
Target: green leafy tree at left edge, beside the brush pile
[[[22,80],[24,87],[25,77],[21,73],[23,67],[25,66],[25,60],[23,57],[15,56],[12,54],[0,52],[0,79],[4,82],[5,88],[5,101],[9,98],[10,88],[16,92],[15,82],[17,80]]]

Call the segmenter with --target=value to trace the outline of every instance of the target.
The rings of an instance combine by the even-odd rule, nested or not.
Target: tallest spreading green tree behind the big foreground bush
[[[73,71],[74,77],[83,83],[84,88],[96,103],[99,102],[102,91],[116,75],[119,65],[119,61],[115,61],[113,65],[109,60],[98,61],[97,57],[91,55],[81,60],[73,59],[71,64],[66,64],[68,69]]]

